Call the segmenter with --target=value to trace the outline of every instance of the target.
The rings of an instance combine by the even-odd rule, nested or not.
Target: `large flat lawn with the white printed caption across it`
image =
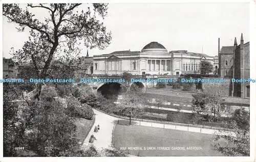
[[[212,137],[214,135],[204,133],[119,124],[115,127],[114,145],[140,156],[224,156],[211,146]],[[224,141],[220,142],[225,145]],[[128,151],[129,147],[137,150]],[[152,147],[151,150],[148,147]]]

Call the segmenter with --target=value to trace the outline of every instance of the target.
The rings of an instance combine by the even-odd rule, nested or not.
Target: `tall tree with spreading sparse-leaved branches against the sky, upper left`
[[[15,51],[14,58],[20,62],[31,62],[39,78],[46,78],[52,61],[66,53],[79,53],[76,46],[83,40],[84,45],[90,48],[98,47],[104,49],[110,44],[111,33],[97,17],[98,13],[102,18],[106,16],[108,4],[92,4],[94,14],[90,7],[86,11],[76,11],[82,4],[28,4],[24,9],[19,4],[3,4],[3,15],[9,22],[17,23],[23,32],[29,28],[29,41],[25,42],[22,49]],[[45,19],[36,19],[28,8],[45,10]],[[38,84],[34,98],[39,99],[41,84]]]

